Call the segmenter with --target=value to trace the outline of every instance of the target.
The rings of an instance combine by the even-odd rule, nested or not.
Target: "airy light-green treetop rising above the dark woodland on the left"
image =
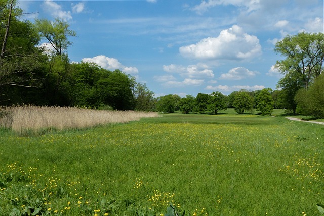
[[[76,36],[76,32],[69,29],[70,24],[61,18],[56,18],[54,22],[47,19],[36,19],[35,27],[41,37],[51,44],[56,55],[66,52],[67,48],[73,44],[69,37]]]

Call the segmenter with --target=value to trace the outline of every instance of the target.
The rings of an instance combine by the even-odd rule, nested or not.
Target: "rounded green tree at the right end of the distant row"
[[[255,106],[256,110],[262,115],[271,115],[273,111],[273,99],[271,96],[272,89],[262,89],[256,94]]]

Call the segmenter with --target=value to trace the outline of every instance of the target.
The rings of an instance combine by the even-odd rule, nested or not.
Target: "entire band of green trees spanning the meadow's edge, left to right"
[[[109,71],[94,63],[72,63],[67,50],[76,32],[69,23],[23,20],[17,0],[0,1],[0,105],[33,104],[78,106],[93,109],[150,110],[217,114],[228,107],[244,113],[253,107],[262,114],[273,108],[294,114],[324,117],[323,33],[301,32],[278,41],[274,51],[284,57],[275,68],[284,77],[277,90],[240,90],[223,95],[198,93],[155,98],[145,83],[120,70]],[[40,46],[42,40],[49,50]]]

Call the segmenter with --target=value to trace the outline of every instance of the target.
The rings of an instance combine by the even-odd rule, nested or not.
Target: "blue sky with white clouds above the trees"
[[[120,69],[155,96],[272,88],[274,44],[323,32],[321,0],[25,1],[24,15],[70,23],[71,61]],[[46,41],[44,41],[46,42]]]

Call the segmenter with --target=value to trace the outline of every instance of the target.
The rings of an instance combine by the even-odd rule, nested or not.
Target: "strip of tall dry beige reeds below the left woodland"
[[[157,117],[155,112],[107,111],[76,107],[18,106],[0,109],[0,127],[21,133],[46,128],[58,130],[87,128],[109,123],[126,123],[140,118]]]

